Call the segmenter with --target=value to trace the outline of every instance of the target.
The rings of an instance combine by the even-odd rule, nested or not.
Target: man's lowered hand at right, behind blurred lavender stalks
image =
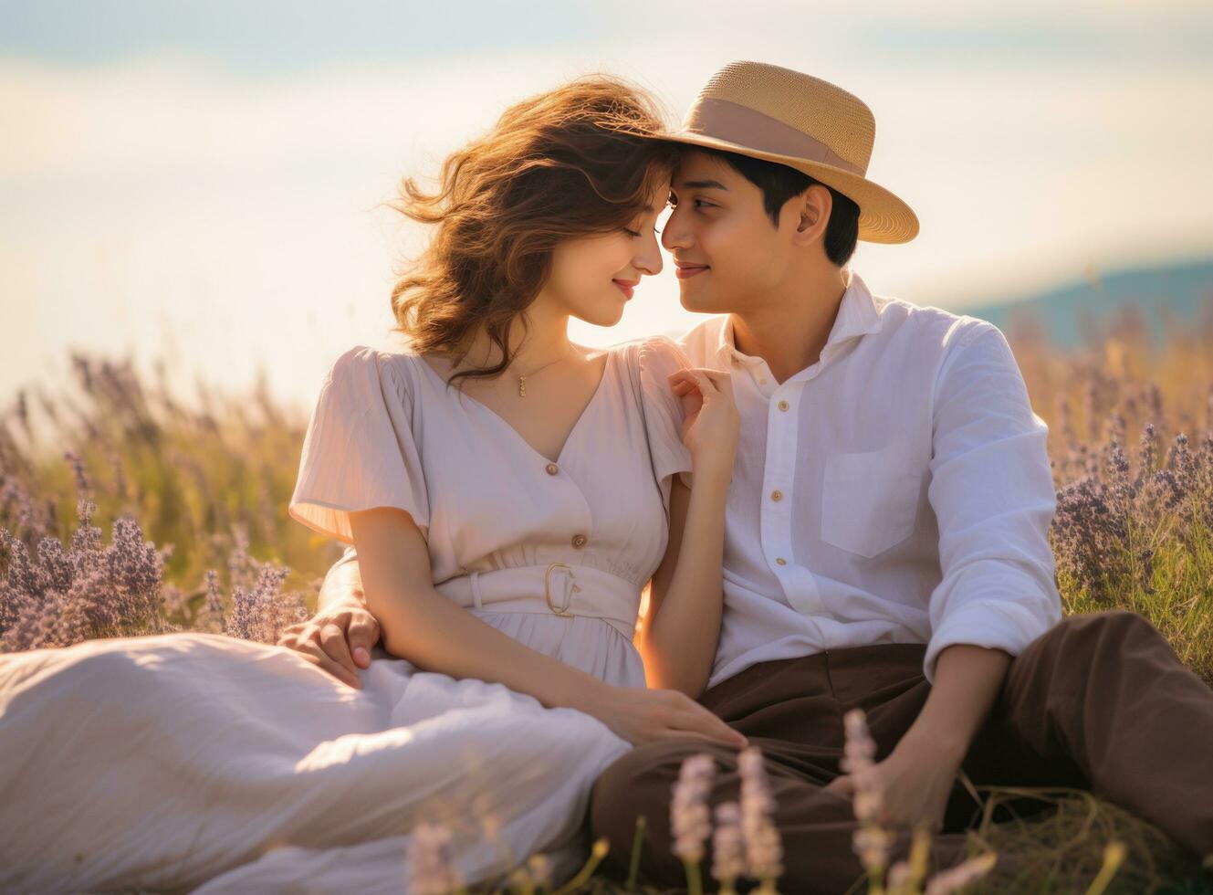
[[[947,797],[952,792],[964,750],[932,742],[907,731],[888,758],[871,767],[871,786],[882,792],[876,821],[882,827],[912,827],[926,822],[933,832],[944,825]],[[835,777],[827,791],[855,795],[855,777]]]

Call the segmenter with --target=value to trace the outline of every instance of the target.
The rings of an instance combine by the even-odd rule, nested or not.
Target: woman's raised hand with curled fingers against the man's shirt
[[[684,367],[668,376],[670,389],[683,400],[682,440],[690,451],[695,475],[733,477],[741,417],[733,397],[733,376],[707,367]]]

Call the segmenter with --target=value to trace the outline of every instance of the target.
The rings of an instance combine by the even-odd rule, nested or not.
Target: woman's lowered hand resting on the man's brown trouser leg
[[[748,746],[745,736],[677,690],[603,684],[577,708],[633,746],[670,737],[695,737],[739,749]]]

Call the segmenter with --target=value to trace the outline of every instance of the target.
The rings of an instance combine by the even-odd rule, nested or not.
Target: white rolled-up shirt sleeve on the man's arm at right
[[[943,577],[929,605],[923,673],[930,682],[947,646],[1018,656],[1061,619],[1047,436],[1002,330],[975,321],[935,381],[928,498]]]

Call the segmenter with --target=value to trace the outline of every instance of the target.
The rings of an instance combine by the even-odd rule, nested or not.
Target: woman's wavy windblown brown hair
[[[587,75],[518,102],[484,136],[443,163],[435,192],[402,181],[388,203],[434,225],[428,245],[392,289],[397,325],[418,352],[466,357],[483,328],[509,366],[511,321],[547,282],[564,239],[626,227],[676,159],[656,100],[614,75]]]

